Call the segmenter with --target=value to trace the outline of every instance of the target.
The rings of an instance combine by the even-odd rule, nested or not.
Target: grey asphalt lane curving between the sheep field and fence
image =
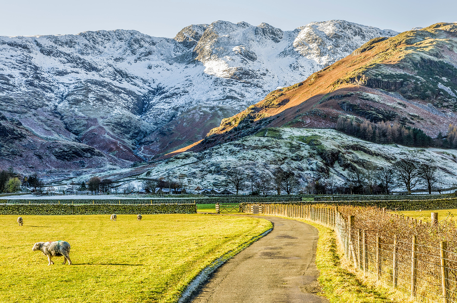
[[[316,295],[317,229],[295,220],[260,218],[273,222],[273,230],[213,272],[191,302],[329,302]]]

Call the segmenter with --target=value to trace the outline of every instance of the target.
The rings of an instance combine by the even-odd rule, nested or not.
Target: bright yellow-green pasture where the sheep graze
[[[0,216],[0,302],[176,302],[221,255],[271,228],[211,215]],[[48,266],[39,241],[66,240],[73,265]]]

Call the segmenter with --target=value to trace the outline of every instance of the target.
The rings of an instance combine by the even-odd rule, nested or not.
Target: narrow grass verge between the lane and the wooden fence
[[[285,218],[290,219],[290,218]],[[403,295],[365,279],[342,259],[335,233],[330,228],[295,219],[314,226],[319,231],[316,265],[320,271],[321,294],[331,303],[399,303],[408,301]]]

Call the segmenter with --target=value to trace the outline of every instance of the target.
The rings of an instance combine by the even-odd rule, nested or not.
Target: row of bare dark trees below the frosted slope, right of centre
[[[330,174],[327,178],[305,177],[291,169],[278,168],[271,173],[247,173],[240,168],[226,171],[226,180],[238,194],[248,191],[250,195],[267,194],[392,194],[396,188],[403,188],[411,194],[419,186],[431,194],[441,193],[444,182],[438,176],[438,167],[419,163],[414,159],[401,159],[392,166],[378,167],[367,164],[364,168],[348,169],[345,181]]]

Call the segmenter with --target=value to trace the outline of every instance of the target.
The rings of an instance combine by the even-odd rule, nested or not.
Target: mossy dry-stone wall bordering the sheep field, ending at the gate
[[[195,204],[0,204],[0,215],[196,214]]]

